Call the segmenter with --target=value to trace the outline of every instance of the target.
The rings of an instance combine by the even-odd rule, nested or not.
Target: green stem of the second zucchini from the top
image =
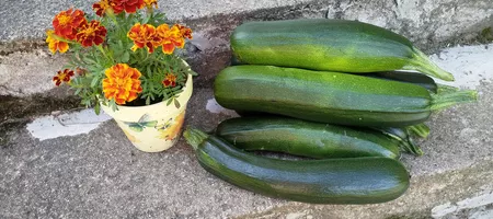
[[[442,92],[432,94],[429,110],[439,111],[460,103],[469,103],[478,100],[478,92],[472,90]]]

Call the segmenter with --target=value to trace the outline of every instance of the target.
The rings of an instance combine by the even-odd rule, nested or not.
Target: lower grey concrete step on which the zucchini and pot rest
[[[485,47],[489,47],[488,49]],[[203,170],[183,139],[162,153],[135,149],[91,111],[32,117],[0,149],[2,218],[488,218],[493,205],[493,45],[432,56],[480,100],[433,115],[425,154],[404,155],[411,187],[378,205],[307,205],[234,187]],[[211,130],[237,116],[196,89],[186,124]],[[49,135],[47,135],[49,134]]]

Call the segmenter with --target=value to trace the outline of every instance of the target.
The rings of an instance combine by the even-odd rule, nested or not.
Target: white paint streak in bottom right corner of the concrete
[[[463,209],[479,208],[493,204],[493,193],[483,194],[473,198],[467,198],[457,204],[444,204],[432,209],[433,218],[443,218],[450,214],[458,212]]]

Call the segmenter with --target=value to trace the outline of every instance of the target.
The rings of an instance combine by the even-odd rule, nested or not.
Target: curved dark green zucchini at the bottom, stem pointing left
[[[282,160],[243,152],[197,129],[186,129],[184,137],[206,171],[271,197],[313,204],[374,204],[398,198],[410,184],[405,168],[390,158]]]

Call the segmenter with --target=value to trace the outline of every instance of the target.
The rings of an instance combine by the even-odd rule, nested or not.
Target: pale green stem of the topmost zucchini
[[[403,70],[416,70],[424,74],[428,74],[445,81],[454,81],[454,76],[438,67],[436,64],[434,64],[432,60],[429,60],[428,56],[421,51],[420,49],[413,47],[413,50],[415,51],[415,55],[413,57],[413,60],[410,62],[409,66],[402,67]]]

